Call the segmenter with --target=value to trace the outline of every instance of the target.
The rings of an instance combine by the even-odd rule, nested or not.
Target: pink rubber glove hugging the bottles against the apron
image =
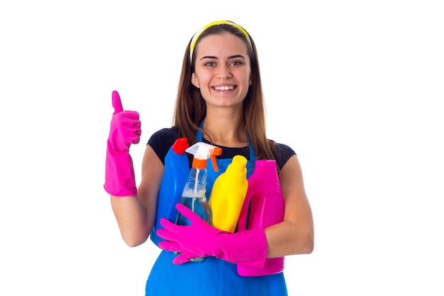
[[[215,256],[231,263],[262,268],[267,255],[267,238],[264,229],[249,229],[235,232],[221,231],[207,224],[183,204],[176,205],[191,226],[176,225],[165,218],[160,219],[164,229],[157,230],[165,251],[182,253],[174,258],[174,264],[187,263],[192,258]]]

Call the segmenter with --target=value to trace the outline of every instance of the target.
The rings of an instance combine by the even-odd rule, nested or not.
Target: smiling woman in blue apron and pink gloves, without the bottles
[[[265,133],[257,51],[248,32],[231,21],[216,21],[194,34],[184,55],[173,126],[150,137],[137,190],[128,151],[140,139],[138,113],[123,111],[116,92],[113,106],[104,187],[111,194],[122,238],[128,246],[138,246],[148,239],[156,220],[165,228],[157,231],[165,239],[159,244],[164,250],[151,270],[146,295],[287,295],[283,272],[254,277],[236,272],[236,264],[257,267],[265,258],[311,253],[314,236],[296,153]],[[174,221],[156,216],[165,155],[181,137],[190,145],[204,141],[221,147],[218,174],[233,155],[245,156],[248,170],[254,169],[255,160],[276,160],[284,221],[221,236],[221,231],[200,223],[182,207],[177,209],[193,221],[192,226],[176,227]],[[218,174],[209,172],[207,198]],[[206,260],[188,262],[199,256]]]

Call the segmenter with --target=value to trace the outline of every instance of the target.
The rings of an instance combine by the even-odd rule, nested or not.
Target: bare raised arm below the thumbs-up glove
[[[143,155],[142,180],[138,187],[138,196],[113,197],[111,195],[111,207],[122,239],[128,246],[139,246],[150,236],[155,223],[157,194],[163,171],[162,161],[148,145]]]

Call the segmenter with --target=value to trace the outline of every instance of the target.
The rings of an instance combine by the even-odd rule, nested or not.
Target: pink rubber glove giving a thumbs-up
[[[140,121],[136,111],[123,111],[118,92],[112,95],[114,114],[111,119],[106,147],[105,185],[106,192],[116,197],[137,195],[133,159],[129,153],[131,144],[140,141]]]

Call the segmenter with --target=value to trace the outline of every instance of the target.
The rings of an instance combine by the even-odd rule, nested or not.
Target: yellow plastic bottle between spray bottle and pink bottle
[[[235,155],[225,172],[219,175],[211,190],[209,204],[212,226],[234,232],[248,189],[247,158]]]

